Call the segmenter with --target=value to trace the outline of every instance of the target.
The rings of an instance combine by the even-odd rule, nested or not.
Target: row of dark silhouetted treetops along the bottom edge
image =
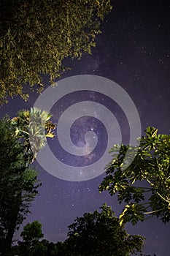
[[[32,222],[21,233],[15,246],[18,255],[28,256],[128,256],[141,252],[144,238],[126,233],[112,209],[104,204],[101,212],[86,213],[69,226],[69,238],[53,244],[43,239],[41,225]]]

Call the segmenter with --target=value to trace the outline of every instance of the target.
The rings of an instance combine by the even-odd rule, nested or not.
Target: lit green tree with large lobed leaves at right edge
[[[128,150],[134,154],[134,146],[115,145],[120,148],[117,157],[107,165],[107,176],[99,191],[117,194],[118,202],[126,206],[120,214],[120,224],[155,216],[166,223],[170,220],[170,135],[158,134],[158,129],[148,127],[145,136],[139,139],[139,148],[134,161],[128,166],[123,162]]]

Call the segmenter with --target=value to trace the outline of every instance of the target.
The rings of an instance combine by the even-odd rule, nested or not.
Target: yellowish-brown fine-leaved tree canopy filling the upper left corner
[[[10,8],[9,8],[10,7]],[[28,98],[24,85],[44,89],[64,71],[63,59],[80,59],[95,46],[111,0],[2,0],[0,3],[0,99]]]

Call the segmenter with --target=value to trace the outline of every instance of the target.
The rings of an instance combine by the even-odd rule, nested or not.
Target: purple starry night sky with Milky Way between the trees
[[[85,55],[80,61],[66,59],[64,64],[72,69],[66,71],[58,81],[73,75],[98,75],[108,78],[121,86],[133,100],[139,112],[142,133],[146,127],[151,126],[157,127],[160,133],[169,134],[169,12],[169,1],[113,1],[113,10],[101,25],[102,34],[99,34],[96,39],[96,48],[93,48],[92,55]],[[85,93],[75,94],[73,101],[78,97],[80,97],[80,102],[87,100],[86,97],[91,97],[92,94],[88,95],[87,93],[86,96]],[[15,116],[18,110],[29,109],[34,105],[38,96],[38,94],[32,93],[28,102],[24,102],[19,97],[9,100],[8,105],[4,105],[0,109],[1,117],[5,113]],[[99,94],[93,95],[95,99],[98,97],[100,97]],[[54,102],[51,110],[53,121],[58,122],[61,105],[66,104],[63,109],[68,108],[69,104],[72,104],[71,99],[72,95],[64,99],[62,104]],[[110,104],[114,105],[115,103],[111,102]],[[123,116],[123,111],[116,104],[114,110],[115,118],[124,136],[123,142],[128,142],[129,127],[128,124],[125,125],[127,120]],[[104,134],[105,137],[95,153],[95,157],[99,158],[101,157],[99,152],[101,155],[108,154],[107,151],[102,152],[104,151],[104,140],[107,140],[107,132],[104,133],[104,126],[97,117],[98,115],[96,118],[87,115],[85,118],[80,118],[71,127],[71,137],[72,141],[81,147],[85,146],[84,136],[89,129],[96,132],[98,140]],[[90,124],[93,124],[93,127]],[[55,157],[58,157],[59,154],[59,157],[62,158],[57,138],[58,136],[49,144]],[[109,143],[112,145],[115,140],[116,138]],[[92,158],[93,154],[88,157],[87,162],[83,162],[81,158],[76,160],[75,164],[70,160],[68,154],[66,157],[68,172],[69,165],[79,166],[81,161],[83,166],[87,164],[89,167],[89,161]],[[50,159],[47,161],[50,162]],[[99,209],[105,202],[112,206],[117,216],[120,214],[122,206],[117,203],[116,197],[110,197],[108,192],[98,193],[98,186],[105,176],[104,173],[88,181],[66,181],[51,175],[38,163],[35,163],[34,166],[39,170],[42,187],[39,189],[36,200],[32,203],[31,214],[28,215],[24,225],[38,219],[42,223],[42,231],[45,233],[46,239],[53,242],[65,240],[68,232],[67,226],[72,224],[76,217],[82,216],[85,212]],[[58,166],[56,165],[55,168],[57,170]],[[98,173],[102,173],[103,167],[101,168],[101,171],[97,170]],[[159,219],[152,218],[135,226],[126,225],[126,228],[128,233],[146,237],[145,253],[155,253],[158,256],[169,255],[169,224],[164,225]],[[16,238],[18,238],[18,233]]]

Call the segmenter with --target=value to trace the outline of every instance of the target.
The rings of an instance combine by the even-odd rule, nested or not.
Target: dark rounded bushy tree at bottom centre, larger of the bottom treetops
[[[141,252],[144,239],[126,233],[107,204],[101,206],[101,212],[77,217],[69,226],[68,236],[63,246],[64,255],[69,256],[128,256]]]

